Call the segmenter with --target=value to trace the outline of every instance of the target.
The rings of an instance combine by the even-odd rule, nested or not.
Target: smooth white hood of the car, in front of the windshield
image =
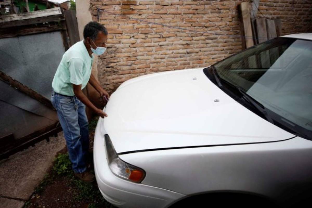
[[[111,95],[105,112],[104,129],[117,153],[294,137],[228,96],[202,68],[128,80]]]

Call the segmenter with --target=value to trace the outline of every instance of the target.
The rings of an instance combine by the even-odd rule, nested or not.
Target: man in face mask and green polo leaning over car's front
[[[89,131],[85,106],[102,118],[107,115],[90,102],[82,93],[82,89],[89,82],[99,92],[100,98],[109,98],[109,94],[91,74],[94,58],[92,53],[100,55],[105,52],[107,35],[106,28],[97,22],[85,25],[84,40],[74,44],[64,53],[52,81],[51,102],[64,132],[72,168],[76,177],[85,182],[95,180],[95,176],[87,170],[86,165]]]

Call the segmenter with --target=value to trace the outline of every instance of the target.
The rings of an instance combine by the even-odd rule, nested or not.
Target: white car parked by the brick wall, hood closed
[[[300,206],[312,195],[312,33],[125,81],[95,130],[118,207]]]

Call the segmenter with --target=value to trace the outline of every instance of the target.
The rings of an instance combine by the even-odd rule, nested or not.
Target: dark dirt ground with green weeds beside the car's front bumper
[[[90,148],[93,148],[94,131],[98,118],[89,124]],[[34,190],[24,208],[113,208],[100,194],[96,181],[92,184],[77,180],[71,170],[67,149],[58,153],[45,179]],[[93,159],[89,160],[93,170]]]

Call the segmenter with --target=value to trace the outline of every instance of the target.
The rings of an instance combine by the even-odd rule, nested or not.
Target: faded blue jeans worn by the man
[[[64,132],[69,159],[76,173],[86,170],[89,149],[88,119],[85,104],[76,96],[65,96],[52,92],[51,102],[57,111]]]

